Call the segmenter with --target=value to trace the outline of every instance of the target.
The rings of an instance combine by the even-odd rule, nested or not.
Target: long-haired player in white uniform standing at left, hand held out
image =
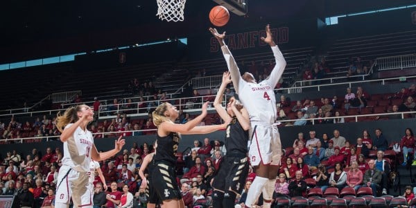
[[[55,207],[67,208],[72,198],[73,207],[92,207],[94,191],[90,189],[89,167],[91,160],[101,161],[112,157],[123,148],[124,139],[117,139],[114,149],[98,153],[92,133],[87,124],[93,120],[94,112],[87,105],[69,107],[61,116],[58,113],[56,127],[62,135],[64,157],[58,173]]]

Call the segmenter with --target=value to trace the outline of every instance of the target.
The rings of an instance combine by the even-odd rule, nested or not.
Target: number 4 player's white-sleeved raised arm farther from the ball
[[[270,31],[270,25],[266,26],[266,37],[261,37],[263,42],[269,44],[272,48],[273,55],[275,56],[275,67],[272,69],[270,76],[267,81],[271,87],[276,87],[281,75],[283,74],[284,68],[286,67],[286,60],[284,60],[283,54],[279,50],[279,47],[273,41],[272,32]]]

